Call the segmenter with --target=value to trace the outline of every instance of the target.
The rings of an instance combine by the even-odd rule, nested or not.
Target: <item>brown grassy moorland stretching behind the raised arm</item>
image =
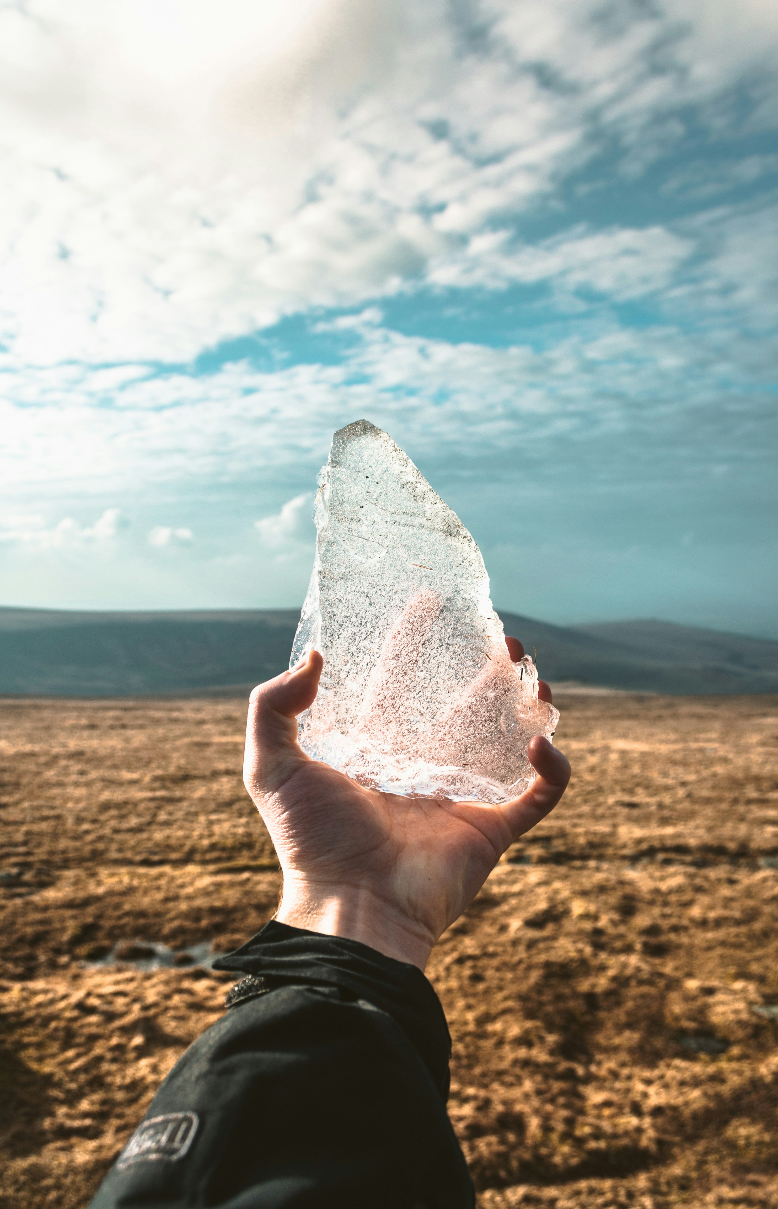
[[[778,699],[562,695],[574,767],[432,955],[482,1209],[778,1207]],[[237,700],[0,702],[0,1203],[85,1205],[228,979],[274,854]]]

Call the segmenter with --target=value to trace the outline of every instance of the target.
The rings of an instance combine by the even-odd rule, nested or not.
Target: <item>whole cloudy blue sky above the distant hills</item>
[[[292,607],[384,428],[498,608],[778,638],[773,0],[0,5],[0,604]]]

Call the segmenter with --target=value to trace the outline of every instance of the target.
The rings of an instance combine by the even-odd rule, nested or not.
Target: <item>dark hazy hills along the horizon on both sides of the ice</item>
[[[0,608],[0,695],[228,693],[289,663],[297,609]],[[778,642],[667,621],[548,625],[500,611],[544,679],[641,693],[778,693]]]

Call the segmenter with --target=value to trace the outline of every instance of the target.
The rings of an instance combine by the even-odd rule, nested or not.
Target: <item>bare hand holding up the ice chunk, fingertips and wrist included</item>
[[[517,663],[523,648],[506,638]],[[519,798],[489,804],[368,789],[310,759],[297,715],[313,702],[321,655],[254,689],[243,777],[275,845],[280,922],[361,941],[424,970],[432,945],[503,852],[556,806],[570,765],[547,739],[528,756],[538,776]],[[548,686],[539,686],[551,700]]]

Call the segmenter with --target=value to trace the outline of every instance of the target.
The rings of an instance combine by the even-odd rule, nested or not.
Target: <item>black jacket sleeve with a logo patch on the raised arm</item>
[[[471,1209],[446,1099],[451,1039],[424,974],[271,922],[91,1209]]]

